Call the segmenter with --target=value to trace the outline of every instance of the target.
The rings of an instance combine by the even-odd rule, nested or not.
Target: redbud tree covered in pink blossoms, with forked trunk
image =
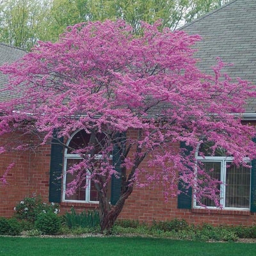
[[[10,75],[3,90],[15,97],[0,104],[0,135],[36,134],[41,145],[54,141],[79,154],[82,161],[67,171],[76,178],[66,193],[84,186],[90,172],[102,230],[113,226],[134,186],[152,182],[168,198],[179,195],[180,180],[198,202],[207,197],[221,207],[219,181],[196,164],[200,143],[209,143],[212,155],[225,150],[236,164],[255,158],[255,128],[242,125],[240,115],[255,86],[223,75],[221,60],[213,76],[200,72],[193,58],[200,36],[159,31],[158,25],[142,24],[138,36],[122,20],[77,24],[58,42],[39,42],[21,60],[1,67]],[[90,134],[83,147],[62,142],[79,129]],[[29,147],[20,142],[13,150]],[[108,189],[114,178],[120,193],[112,205]]]

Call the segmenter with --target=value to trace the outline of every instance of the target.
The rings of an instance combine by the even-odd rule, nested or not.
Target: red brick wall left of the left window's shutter
[[[0,145],[11,143],[14,146],[13,140],[18,136],[3,136]],[[6,186],[0,184],[0,216],[12,216],[15,205],[33,193],[48,202],[50,152],[51,147],[44,146],[0,154],[0,177],[10,163],[15,163],[6,177]]]

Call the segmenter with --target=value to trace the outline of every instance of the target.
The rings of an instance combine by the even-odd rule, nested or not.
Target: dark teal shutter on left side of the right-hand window
[[[186,151],[184,154],[186,156],[189,156],[192,148],[189,146],[186,146],[186,143],[184,141],[180,142],[180,148],[186,148]],[[191,209],[192,205],[192,189],[186,189],[186,184],[182,181],[182,179],[179,180],[178,189],[181,191],[181,193],[178,195],[178,205],[177,207],[179,209]]]

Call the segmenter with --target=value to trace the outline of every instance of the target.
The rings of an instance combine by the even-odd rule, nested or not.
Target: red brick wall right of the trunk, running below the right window
[[[157,198],[157,196],[159,196]],[[256,225],[256,214],[250,211],[223,211],[205,209],[177,209],[177,197],[165,202],[160,189],[134,189],[119,218],[152,223],[184,219],[190,224],[212,225]]]

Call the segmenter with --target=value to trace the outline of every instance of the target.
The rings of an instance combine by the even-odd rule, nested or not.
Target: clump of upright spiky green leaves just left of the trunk
[[[67,212],[63,216],[65,224],[69,228],[86,228],[86,227],[98,227],[100,225],[100,217],[98,211],[83,211],[80,214],[76,212],[74,207],[70,212]]]

